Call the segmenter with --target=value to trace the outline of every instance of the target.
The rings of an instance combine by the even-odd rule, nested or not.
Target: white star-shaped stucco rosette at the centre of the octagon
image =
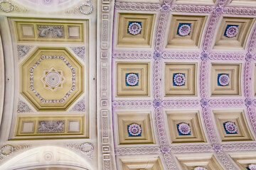
[[[41,77],[41,81],[43,82],[43,87],[45,89],[55,91],[56,89],[63,88],[65,77],[63,77],[63,71],[61,69],[51,67],[50,69],[43,70],[43,77]]]

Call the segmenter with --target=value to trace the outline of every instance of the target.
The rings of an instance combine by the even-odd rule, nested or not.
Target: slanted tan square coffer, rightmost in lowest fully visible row
[[[223,142],[254,140],[244,111],[213,111]]]

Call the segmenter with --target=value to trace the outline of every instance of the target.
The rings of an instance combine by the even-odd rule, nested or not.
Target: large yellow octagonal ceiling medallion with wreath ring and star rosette
[[[65,47],[38,47],[20,69],[21,94],[38,111],[65,111],[83,93],[83,66]]]

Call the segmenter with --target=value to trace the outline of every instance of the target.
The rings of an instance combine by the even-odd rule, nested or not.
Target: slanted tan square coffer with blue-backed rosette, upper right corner
[[[223,17],[216,31],[214,49],[245,49],[248,35],[254,23],[253,18]]]

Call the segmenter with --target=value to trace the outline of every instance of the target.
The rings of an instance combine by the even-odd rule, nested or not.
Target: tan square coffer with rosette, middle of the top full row
[[[166,48],[199,48],[207,16],[173,15]]]

